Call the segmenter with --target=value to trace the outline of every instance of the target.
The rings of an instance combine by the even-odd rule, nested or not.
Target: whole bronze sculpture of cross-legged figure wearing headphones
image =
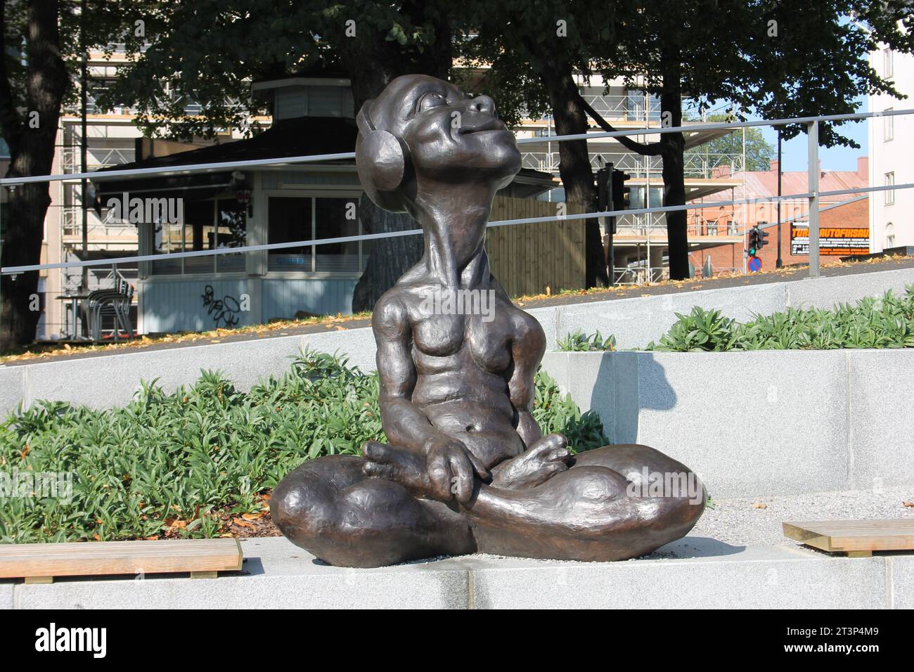
[[[425,250],[372,316],[389,443],[283,478],[271,498],[282,534],[350,567],[473,552],[623,560],[684,536],[705,492],[683,464],[643,445],[572,455],[531,415],[546,337],[492,277],[484,249],[494,194],[520,168],[492,99],[404,76],[357,123],[363,188],[417,219]],[[488,293],[489,319],[430,310],[442,291]],[[651,475],[697,485],[648,491]]]

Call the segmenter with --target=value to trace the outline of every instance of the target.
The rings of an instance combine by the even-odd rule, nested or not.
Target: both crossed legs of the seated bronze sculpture
[[[473,552],[625,560],[684,536],[704,510],[697,481],[691,492],[643,493],[645,473],[689,474],[643,445],[579,453],[568,470],[527,489],[476,481],[465,505],[422,496],[430,483],[420,455],[382,443],[364,450],[367,460],[337,455],[306,462],[272,496],[282,533],[334,565],[378,567]]]

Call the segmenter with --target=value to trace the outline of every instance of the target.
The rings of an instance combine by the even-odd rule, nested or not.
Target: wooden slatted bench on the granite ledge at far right
[[[888,520],[797,520],[782,524],[784,536],[848,558],[874,550],[914,550],[914,518]]]

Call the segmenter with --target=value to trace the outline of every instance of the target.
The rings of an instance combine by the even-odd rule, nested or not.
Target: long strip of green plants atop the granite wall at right
[[[903,296],[887,292],[832,310],[789,308],[740,324],[698,306],[676,314],[675,325],[648,350],[831,350],[842,347],[914,347],[914,285]]]

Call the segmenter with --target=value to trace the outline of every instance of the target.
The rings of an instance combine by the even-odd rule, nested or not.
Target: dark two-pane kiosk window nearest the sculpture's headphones
[[[323,240],[362,233],[357,197],[270,197],[267,241]],[[358,273],[365,269],[370,240],[272,250],[270,271]]]

